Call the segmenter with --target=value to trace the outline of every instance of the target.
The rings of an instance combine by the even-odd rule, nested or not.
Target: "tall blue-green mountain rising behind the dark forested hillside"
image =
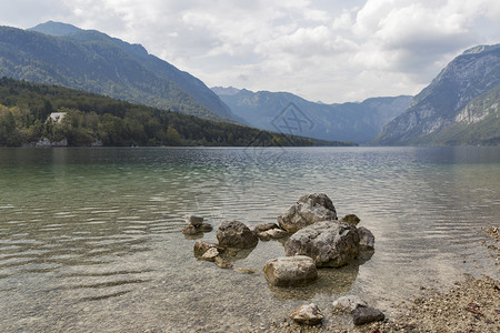
[[[94,30],[47,22],[0,27],[0,77],[106,94],[217,121],[236,117],[199,79],[140,44]]]

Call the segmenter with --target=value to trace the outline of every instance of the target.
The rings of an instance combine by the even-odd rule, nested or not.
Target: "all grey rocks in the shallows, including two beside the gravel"
[[[191,215],[186,219],[188,226],[182,232],[204,231],[202,218]],[[301,196],[278,216],[278,224],[260,224],[250,230],[240,221],[223,221],[217,230],[218,243],[197,241],[194,255],[229,269],[232,263],[227,259],[234,253],[234,249],[253,249],[259,239],[269,241],[288,236],[283,245],[286,256],[267,261],[263,273],[273,286],[303,285],[318,279],[318,269],[340,268],[363,256],[363,253],[373,252],[374,236],[368,229],[357,228],[359,222],[354,214],[338,220],[330,198],[323,193],[312,193]],[[383,320],[380,311],[368,306],[362,300],[349,297],[337,300],[334,306],[352,313],[354,324]],[[290,316],[308,325],[316,325],[323,319],[316,304],[302,305]]]

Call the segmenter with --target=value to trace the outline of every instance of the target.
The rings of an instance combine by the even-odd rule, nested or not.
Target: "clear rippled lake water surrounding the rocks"
[[[186,213],[276,222],[324,192],[376,235],[366,263],[317,283],[270,287],[259,242],[236,268],[197,261]],[[420,285],[499,278],[481,228],[500,218],[500,148],[0,149],[0,331],[266,330],[316,302],[354,293],[387,313]],[[216,241],[216,233],[201,236]]]

